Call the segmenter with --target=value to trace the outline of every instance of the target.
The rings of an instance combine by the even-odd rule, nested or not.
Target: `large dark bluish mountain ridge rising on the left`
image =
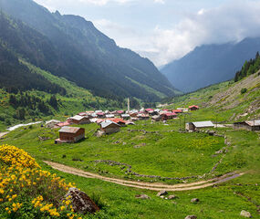
[[[149,59],[118,47],[84,18],[50,13],[32,0],[0,0],[0,6],[1,44],[36,67],[109,99],[175,94]]]

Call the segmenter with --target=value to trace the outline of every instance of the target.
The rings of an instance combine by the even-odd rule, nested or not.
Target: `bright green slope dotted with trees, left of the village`
[[[78,87],[66,78],[54,76],[41,68],[36,68],[23,59],[16,61],[19,67],[19,74],[21,74],[20,69],[22,67],[22,69],[26,69],[26,77],[30,77],[24,78],[21,75],[21,81],[27,79],[27,81],[31,81],[36,86],[37,80],[34,78],[40,78],[39,86],[45,85],[44,81],[49,87],[44,89],[26,87],[24,90],[21,87],[17,87],[19,89],[17,93],[6,92],[6,87],[5,89],[0,89],[0,132],[5,131],[5,128],[11,125],[35,120],[51,120],[54,116],[59,120],[66,120],[68,116],[84,110],[126,108],[124,99],[112,100],[94,96],[87,89]],[[17,85],[23,85],[18,83],[18,79]],[[27,85],[30,86],[31,82]],[[16,91],[17,88],[9,87],[13,91]],[[51,93],[50,91],[55,88],[62,90],[62,92]],[[57,106],[50,103],[50,99],[53,97],[57,99]]]

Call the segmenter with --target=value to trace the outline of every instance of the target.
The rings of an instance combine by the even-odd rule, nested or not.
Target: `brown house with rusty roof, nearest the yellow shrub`
[[[55,143],[75,143],[85,138],[85,129],[78,127],[64,126],[59,132],[59,139]]]

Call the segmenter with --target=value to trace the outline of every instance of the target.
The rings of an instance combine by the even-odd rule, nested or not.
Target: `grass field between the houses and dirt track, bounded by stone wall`
[[[184,177],[210,172],[220,159],[213,158],[212,155],[224,147],[224,138],[212,137],[205,133],[174,131],[143,134],[129,132],[128,128],[124,128],[118,133],[97,138],[93,136],[92,131],[99,128],[96,124],[81,127],[86,128],[87,139],[72,145],[55,145],[57,130],[47,130],[39,126],[32,130],[22,128],[13,131],[5,142],[36,154],[36,157],[41,160],[52,159],[90,172],[109,172],[107,173],[109,176],[120,178],[131,176],[125,174],[126,170],[121,170],[121,166],[96,164],[94,161],[109,160],[127,163],[132,166],[133,172],[140,174]],[[150,124],[150,129],[151,127]],[[39,141],[38,136],[49,137],[50,140]],[[140,148],[135,148],[138,145]],[[62,158],[63,155],[67,157]],[[83,162],[74,162],[72,159]]]

